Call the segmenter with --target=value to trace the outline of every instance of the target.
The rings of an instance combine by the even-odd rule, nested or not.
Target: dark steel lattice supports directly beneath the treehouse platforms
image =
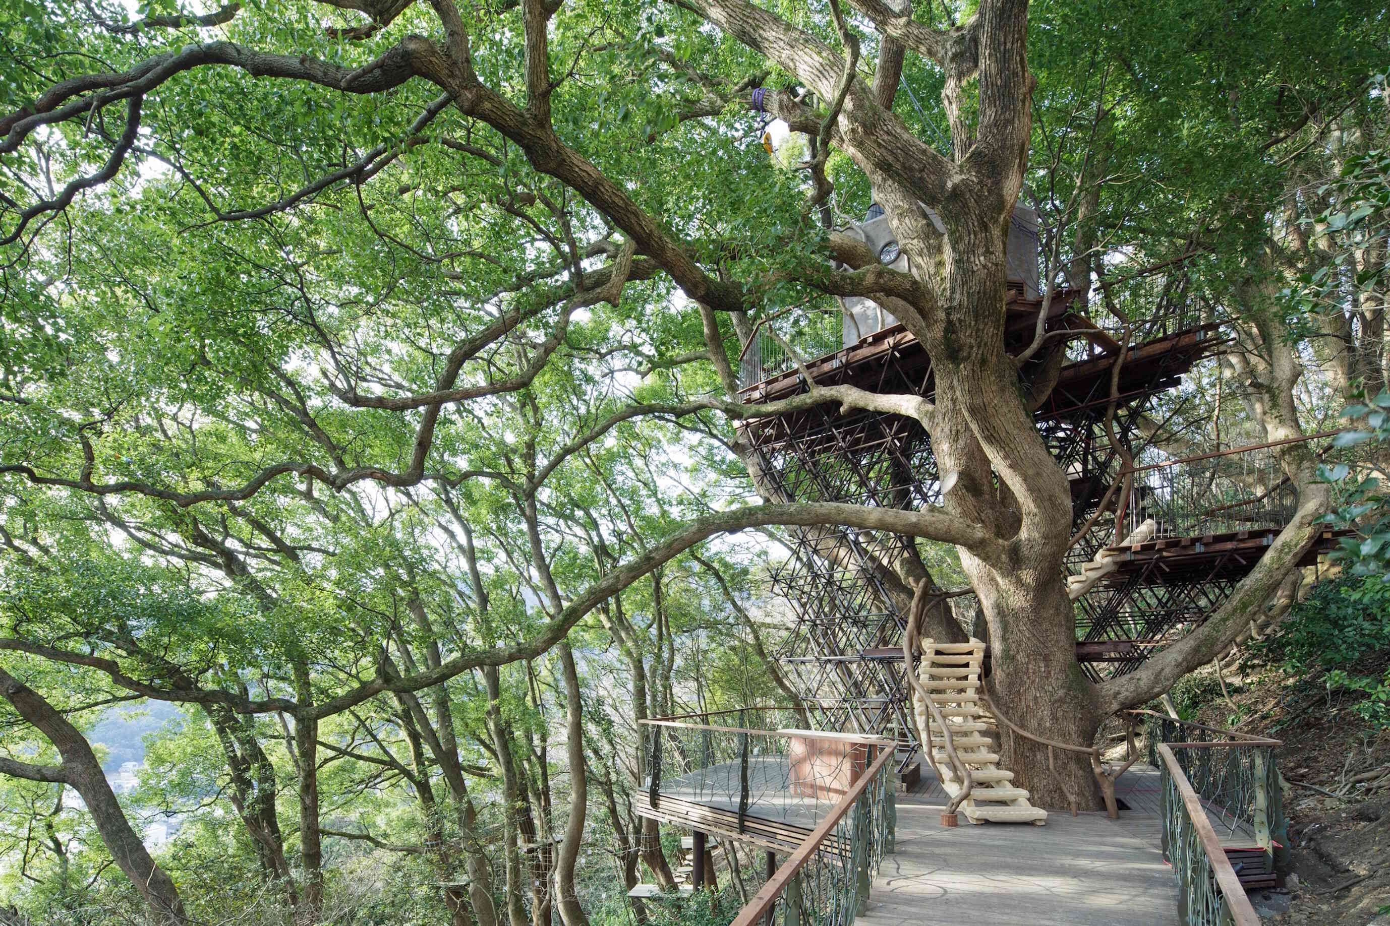
[[[1037,310],[1038,303],[1016,296],[1011,319],[1019,323],[1011,330],[1030,336]],[[1048,326],[1076,325],[1077,317],[1068,311],[1063,301]],[[1194,325],[1129,348],[1095,337],[1058,373],[1036,419],[1072,483],[1073,529],[1095,514],[1118,479],[1120,454],[1109,435],[1129,444],[1137,415],[1219,343],[1213,330],[1215,325]],[[1122,354],[1112,389],[1111,373]],[[933,393],[926,351],[901,326],[812,361],[806,372],[821,385]],[[770,401],[803,390],[803,375],[788,371],[751,385],[744,398]],[[1108,429],[1112,403],[1115,416]],[[744,436],[758,457],[764,490],[784,500],[892,508],[940,501],[931,443],[916,421],[863,411],[841,415],[834,405],[817,405],[749,422]],[[1130,497],[1137,494],[1134,490]],[[1072,571],[1116,543],[1115,530],[1115,519],[1099,518],[1073,548]],[[847,528],[795,529],[788,541],[791,555],[771,573],[776,593],[787,598],[796,618],[780,662],[821,727],[897,734],[901,743],[910,743],[905,666],[894,653],[906,615],[894,605],[884,573],[898,557],[916,554],[915,541]],[[1091,677],[1133,671],[1155,646],[1211,614],[1254,562],[1250,550],[1216,557],[1188,553],[1194,557],[1176,572],[1159,555],[1127,562],[1077,603],[1077,639],[1094,644],[1086,664]]]

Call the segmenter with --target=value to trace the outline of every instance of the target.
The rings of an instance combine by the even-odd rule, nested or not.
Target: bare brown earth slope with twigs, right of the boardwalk
[[[1270,922],[1390,926],[1390,730],[1373,730],[1352,698],[1247,657],[1197,672],[1173,691],[1184,716],[1283,741],[1284,814],[1293,848]],[[1258,901],[1258,898],[1257,898]],[[1279,912],[1284,911],[1286,912]]]

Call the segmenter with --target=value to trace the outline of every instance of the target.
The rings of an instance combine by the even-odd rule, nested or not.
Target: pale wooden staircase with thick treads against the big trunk
[[[972,823],[1047,822],[1047,811],[1029,804],[1029,793],[1013,787],[1013,772],[999,768],[997,722],[980,697],[980,666],[984,662],[984,643],[934,643],[922,640],[922,662],[917,677],[931,693],[947,729],[931,723],[922,696],[913,689],[913,715],[923,747],[930,748],[931,765],[941,777],[941,787],[956,797],[963,782],[956,776],[947,754],[947,739],[970,773],[972,789],[962,801],[960,811]],[[929,746],[930,744],[930,746]]]

